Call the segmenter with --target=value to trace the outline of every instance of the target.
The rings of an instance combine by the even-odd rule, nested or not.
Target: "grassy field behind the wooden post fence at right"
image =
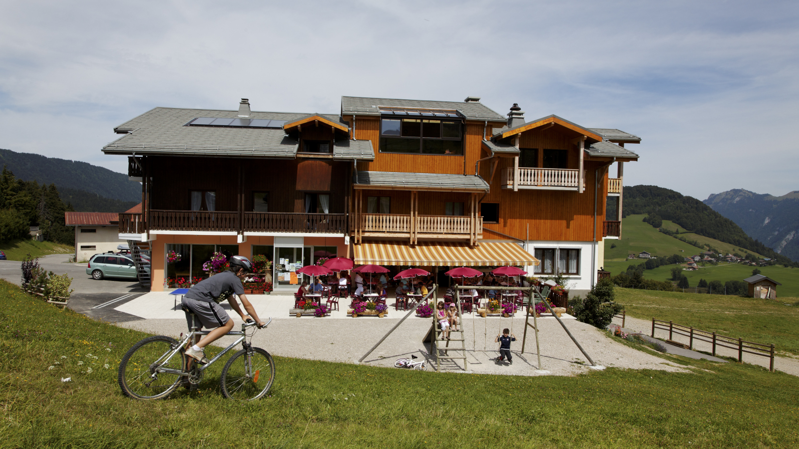
[[[703,331],[775,344],[777,351],[799,355],[799,307],[741,296],[653,292],[616,288],[627,315],[672,320]]]

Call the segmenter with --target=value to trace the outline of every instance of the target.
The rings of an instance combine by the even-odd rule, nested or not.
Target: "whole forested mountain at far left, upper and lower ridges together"
[[[141,183],[86,162],[0,149],[0,165],[22,181],[56,185],[77,212],[124,212],[141,202]]]

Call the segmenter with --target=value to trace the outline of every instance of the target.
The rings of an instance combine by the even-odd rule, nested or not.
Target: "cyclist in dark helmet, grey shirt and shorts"
[[[230,307],[235,310],[241,320],[255,320],[258,327],[262,327],[264,322],[258,318],[255,309],[252,308],[247,296],[244,295],[244,285],[241,281],[252,272],[252,262],[244,256],[231,256],[228,260],[230,268],[228,271],[217,273],[206,280],[202,280],[199,284],[189,289],[183,296],[182,304],[189,308],[201,324],[205,328],[214,328],[208,335],[202,337],[201,340],[195,342],[191,348],[185,351],[186,356],[197,360],[198,363],[207,364],[208,359],[205,357],[203,348],[218,340],[221,336],[233,329],[233,320],[225,312],[225,309],[219,305],[223,300],[228,300]],[[238,295],[244,310],[249,315],[241,312],[241,308],[233,295]],[[192,317],[189,312],[186,312],[186,321],[189,323],[189,328],[192,327]],[[197,336],[199,339],[199,336]],[[189,342],[190,344],[190,342]]]

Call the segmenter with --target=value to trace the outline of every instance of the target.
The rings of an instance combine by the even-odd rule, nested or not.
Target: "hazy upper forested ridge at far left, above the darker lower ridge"
[[[58,189],[83,190],[115,200],[141,201],[140,183],[129,181],[125,173],[97,165],[40,154],[16,153],[10,149],[0,149],[0,165],[6,165],[22,181],[54,184]]]

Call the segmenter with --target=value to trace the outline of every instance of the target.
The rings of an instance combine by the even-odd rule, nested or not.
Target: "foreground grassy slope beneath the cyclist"
[[[213,368],[201,391],[144,403],[121,396],[115,370],[125,350],[145,334],[60,311],[4,282],[0,318],[3,447],[627,449],[799,443],[799,378],[752,365],[679,360],[702,369],[505,377],[278,357],[271,396],[256,403],[221,399]],[[109,369],[102,368],[105,363]],[[91,374],[83,372],[87,367],[93,367]],[[62,383],[67,376],[73,380]]]

